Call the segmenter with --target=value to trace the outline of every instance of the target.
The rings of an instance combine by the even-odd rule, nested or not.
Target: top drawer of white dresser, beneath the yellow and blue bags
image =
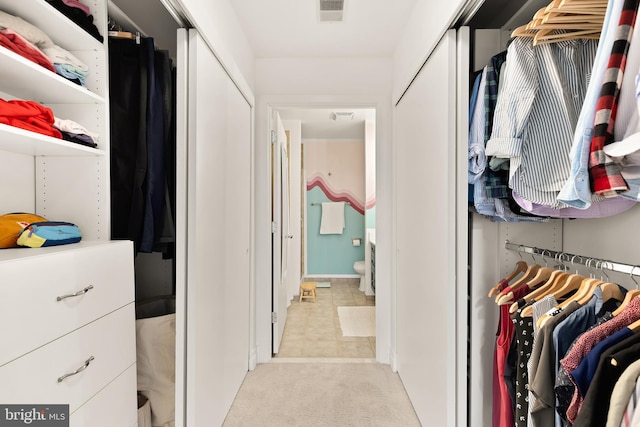
[[[130,242],[58,248],[0,260],[0,366],[134,300]]]

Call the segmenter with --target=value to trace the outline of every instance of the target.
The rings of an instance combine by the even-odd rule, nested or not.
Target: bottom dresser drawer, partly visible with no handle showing
[[[70,427],[131,427],[138,422],[136,366],[130,366],[71,414]]]

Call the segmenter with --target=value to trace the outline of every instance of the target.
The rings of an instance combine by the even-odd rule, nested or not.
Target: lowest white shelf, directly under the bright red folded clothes
[[[104,156],[105,152],[58,138],[0,124],[0,150],[30,156]]]

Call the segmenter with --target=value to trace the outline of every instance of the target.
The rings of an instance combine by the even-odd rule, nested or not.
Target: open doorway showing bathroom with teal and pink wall
[[[375,108],[273,111],[276,359],[376,356],[375,117]],[[300,299],[303,282],[315,298]]]

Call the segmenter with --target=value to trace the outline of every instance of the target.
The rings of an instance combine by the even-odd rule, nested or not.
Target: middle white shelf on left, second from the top
[[[85,87],[0,47],[0,81],[11,94],[41,104],[104,104],[105,99]]]

